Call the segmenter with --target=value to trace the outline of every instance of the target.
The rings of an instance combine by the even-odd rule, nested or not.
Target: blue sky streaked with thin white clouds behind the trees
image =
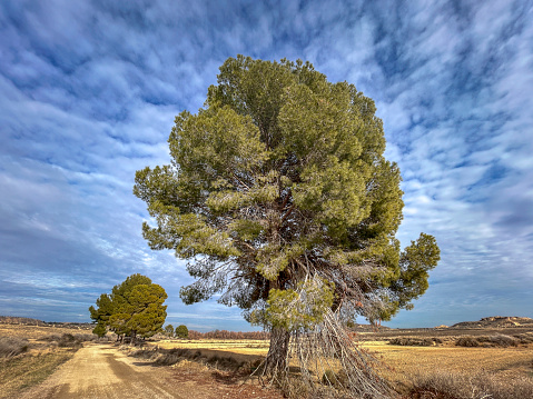
[[[89,321],[132,273],[167,322],[250,330],[181,303],[136,170],[169,163],[229,57],[310,61],[373,98],[404,190],[402,246],[435,236],[430,288],[389,327],[533,317],[533,1],[0,2],[0,315]]]

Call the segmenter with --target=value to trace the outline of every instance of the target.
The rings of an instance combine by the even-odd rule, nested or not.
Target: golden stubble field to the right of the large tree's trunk
[[[365,347],[386,365],[383,373],[402,398],[533,398],[532,346],[394,347],[381,341]]]

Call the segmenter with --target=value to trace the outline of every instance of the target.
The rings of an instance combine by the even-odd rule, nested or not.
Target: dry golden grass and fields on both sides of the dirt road
[[[89,338],[78,329],[0,325],[0,398],[46,379]],[[533,398],[533,329],[386,330],[357,338],[382,361],[402,399]],[[267,353],[268,341],[164,339],[129,351],[181,373],[220,370],[241,381]],[[335,385],[343,372],[332,368],[317,378]]]

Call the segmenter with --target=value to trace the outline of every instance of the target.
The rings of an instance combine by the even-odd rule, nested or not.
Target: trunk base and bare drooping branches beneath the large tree
[[[376,372],[377,360],[352,340],[337,313],[328,311],[312,331],[287,337],[286,358],[269,352],[256,376],[289,398],[391,398],[389,387]]]

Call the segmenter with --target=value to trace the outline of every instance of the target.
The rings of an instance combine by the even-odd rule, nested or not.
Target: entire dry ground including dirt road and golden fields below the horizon
[[[213,331],[189,339],[160,332],[141,346],[120,346],[113,335],[92,335],[93,325],[17,317],[0,321],[2,399],[305,397],[297,390],[284,393],[253,375],[268,351],[268,340],[253,335],[223,339],[217,335],[230,332]],[[533,319],[491,317],[421,329],[356,325],[352,331],[357,345],[378,360],[376,367],[394,390],[391,398],[533,395]]]

